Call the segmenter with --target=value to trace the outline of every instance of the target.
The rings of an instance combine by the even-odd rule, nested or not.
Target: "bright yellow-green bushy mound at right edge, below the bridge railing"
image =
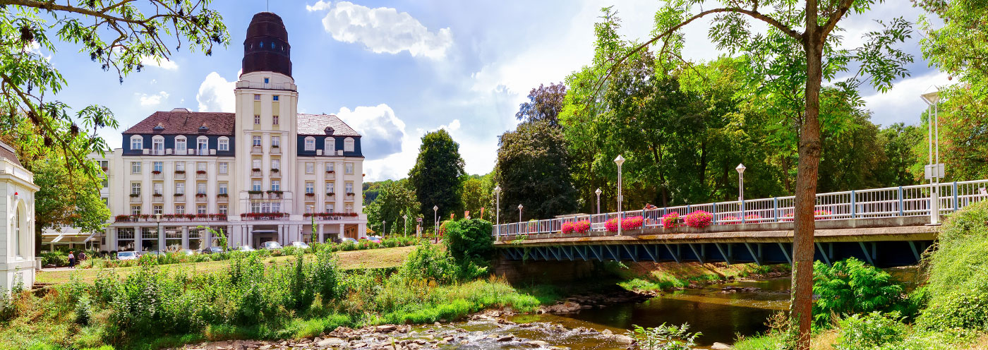
[[[941,227],[930,265],[929,303],[917,319],[922,326],[988,329],[988,202],[950,215]]]

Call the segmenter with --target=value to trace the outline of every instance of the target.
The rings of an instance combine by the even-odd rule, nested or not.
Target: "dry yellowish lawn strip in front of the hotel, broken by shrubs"
[[[415,246],[406,247],[395,247],[395,248],[378,248],[369,250],[353,250],[353,251],[343,251],[337,253],[340,259],[340,267],[349,269],[363,269],[363,268],[386,268],[386,267],[397,267],[405,261],[405,257],[408,256]],[[267,264],[282,263],[288,261],[288,259],[294,259],[293,256],[278,256],[265,258],[264,262]],[[229,265],[229,260],[223,261],[207,261],[201,263],[186,263],[186,264],[169,264],[163,265],[164,267],[170,269],[188,269],[194,272],[213,272],[225,269]],[[117,273],[122,277],[127,274],[137,271],[139,267],[119,267],[114,268]],[[96,280],[97,274],[100,273],[100,269],[76,269],[76,270],[58,270],[58,271],[39,271],[37,275],[37,282],[44,284],[60,285],[68,283],[72,274],[76,274],[83,282],[92,283]]]

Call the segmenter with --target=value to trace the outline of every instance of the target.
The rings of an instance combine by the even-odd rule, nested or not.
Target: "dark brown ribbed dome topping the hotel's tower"
[[[291,76],[291,45],[282,18],[271,12],[254,15],[244,39],[243,74],[270,71]]]

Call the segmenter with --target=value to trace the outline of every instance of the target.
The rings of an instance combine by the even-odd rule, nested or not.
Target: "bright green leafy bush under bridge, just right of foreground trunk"
[[[904,305],[902,286],[888,273],[861,260],[849,258],[827,266],[813,266],[813,319],[827,326],[834,316],[899,309]]]

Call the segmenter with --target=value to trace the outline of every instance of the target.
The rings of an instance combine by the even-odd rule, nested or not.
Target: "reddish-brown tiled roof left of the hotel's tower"
[[[232,135],[236,117],[232,113],[222,112],[189,112],[184,109],[174,109],[171,112],[155,112],[137,125],[130,127],[124,133],[162,133],[162,134],[225,134]],[[155,131],[158,125],[164,129]],[[200,132],[200,127],[206,126],[208,131]]]

